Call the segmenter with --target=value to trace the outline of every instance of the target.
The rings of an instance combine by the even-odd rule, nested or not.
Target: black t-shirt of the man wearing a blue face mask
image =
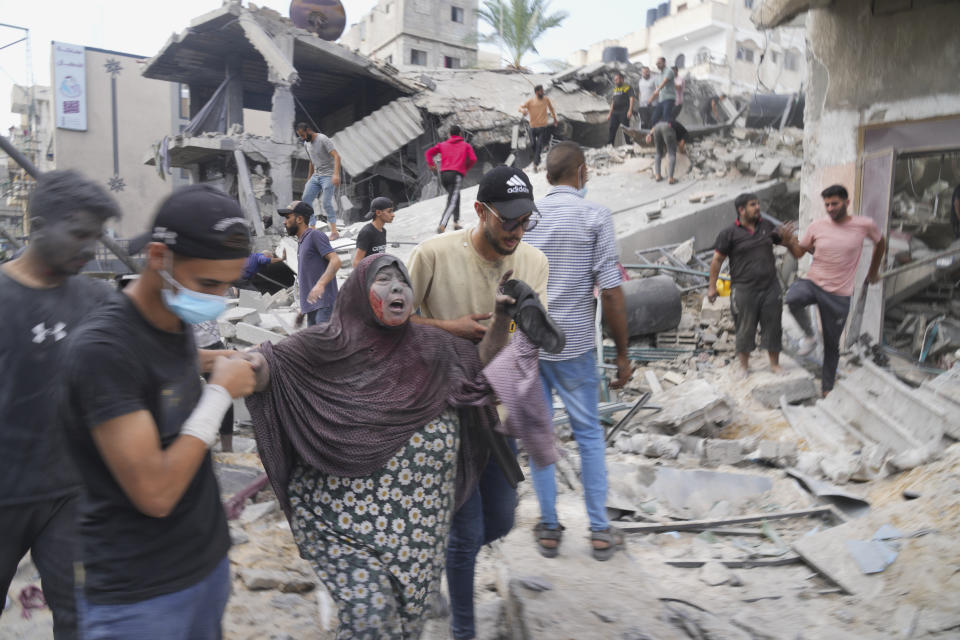
[[[149,411],[160,445],[173,443],[202,392],[192,332],[161,331],[118,295],[74,333],[64,366],[62,409],[83,480],[78,528],[86,598],[140,602],[196,584],[230,548],[210,455],[170,515],[153,518],[117,484],[91,434],[113,418]]]

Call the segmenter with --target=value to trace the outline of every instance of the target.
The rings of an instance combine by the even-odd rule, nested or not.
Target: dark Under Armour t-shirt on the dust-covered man
[[[87,276],[34,289],[0,269],[0,506],[79,491],[57,422],[60,364],[66,338],[111,295],[106,283]]]

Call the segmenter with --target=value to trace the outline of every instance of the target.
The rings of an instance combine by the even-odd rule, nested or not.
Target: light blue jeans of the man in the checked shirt
[[[603,531],[607,520],[607,467],[604,461],[606,443],[598,413],[599,377],[597,354],[588,351],[569,360],[540,360],[540,382],[547,406],[553,406],[556,389],[570,416],[573,437],[580,451],[580,479],[587,503],[591,531]],[[555,528],[557,521],[557,478],[554,465],[538,468],[530,461],[533,488],[540,502],[540,521]]]

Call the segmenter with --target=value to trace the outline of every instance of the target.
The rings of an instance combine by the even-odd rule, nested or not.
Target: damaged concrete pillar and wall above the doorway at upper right
[[[823,214],[819,193],[840,182],[853,208],[859,128],[960,114],[960,3],[874,16],[869,0],[807,13],[800,226]]]

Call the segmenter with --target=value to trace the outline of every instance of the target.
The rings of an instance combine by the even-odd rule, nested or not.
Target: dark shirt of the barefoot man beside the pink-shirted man
[[[776,227],[764,219],[751,233],[735,222],[717,236],[713,248],[730,258],[730,282],[734,287],[767,287],[777,279],[773,245],[780,244]]]

